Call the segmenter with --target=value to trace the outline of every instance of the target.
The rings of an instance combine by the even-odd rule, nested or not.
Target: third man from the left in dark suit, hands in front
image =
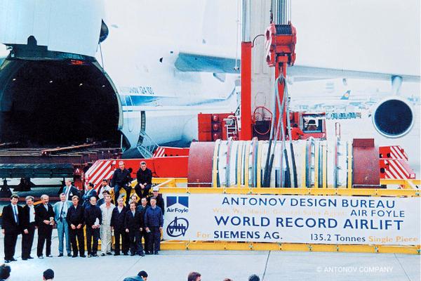
[[[44,259],[42,252],[44,243],[46,243],[46,256],[52,258],[51,255],[51,233],[53,233],[54,211],[53,206],[48,203],[50,197],[41,195],[41,202],[35,208],[35,223],[38,226],[38,244],[36,245],[36,255],[39,259]]]

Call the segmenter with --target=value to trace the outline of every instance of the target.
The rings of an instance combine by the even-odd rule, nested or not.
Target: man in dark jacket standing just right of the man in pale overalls
[[[124,218],[128,207],[124,207],[123,197],[119,197],[117,200],[117,206],[112,210],[111,215],[111,229],[114,230],[114,256],[120,255],[120,240],[121,250],[123,255],[128,255],[128,235],[124,229]]]

